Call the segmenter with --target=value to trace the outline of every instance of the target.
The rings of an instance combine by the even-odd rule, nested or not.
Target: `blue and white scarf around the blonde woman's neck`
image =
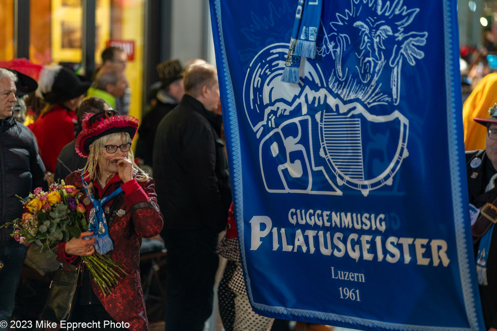
[[[81,174],[81,180],[85,186],[88,186],[88,183],[83,179],[83,173]],[[114,244],[109,236],[107,220],[105,219],[105,213],[103,212],[102,205],[104,205],[108,200],[113,199],[123,190],[119,188],[100,200],[93,197],[91,190],[84,188],[84,191],[86,192],[88,199],[90,199],[93,204],[88,218],[88,231],[93,231],[93,238],[95,238],[95,244],[93,244],[93,247],[98,254],[106,254],[114,249]]]

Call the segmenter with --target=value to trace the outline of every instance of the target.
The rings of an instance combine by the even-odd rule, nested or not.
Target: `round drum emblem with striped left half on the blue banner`
[[[320,114],[320,154],[339,186],[345,184],[367,196],[370,190],[392,185],[392,177],[409,155],[409,121],[398,111],[378,117],[356,107],[348,115]]]

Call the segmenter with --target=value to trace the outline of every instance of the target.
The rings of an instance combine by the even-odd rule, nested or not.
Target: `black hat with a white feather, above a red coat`
[[[77,98],[91,86],[91,81],[63,66],[45,66],[40,72],[36,95],[50,104],[62,104]]]

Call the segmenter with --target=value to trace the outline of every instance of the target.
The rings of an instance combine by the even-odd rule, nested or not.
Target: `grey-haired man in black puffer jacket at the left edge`
[[[47,188],[45,166],[38,155],[38,145],[28,128],[13,117],[16,101],[16,75],[0,68],[0,226],[22,215],[16,195],[27,197],[36,187]],[[20,86],[21,88],[23,86]],[[35,87],[36,89],[36,87]],[[0,229],[0,321],[8,321],[14,309],[27,247],[17,243],[11,228]],[[8,327],[0,330],[8,330]]]

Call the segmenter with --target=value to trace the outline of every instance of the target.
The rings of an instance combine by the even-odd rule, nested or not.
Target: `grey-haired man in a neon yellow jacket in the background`
[[[126,95],[128,80],[124,70],[114,64],[103,66],[95,76],[93,86],[88,89],[87,97],[103,99],[113,110],[124,114],[123,109],[118,109],[116,98]]]

